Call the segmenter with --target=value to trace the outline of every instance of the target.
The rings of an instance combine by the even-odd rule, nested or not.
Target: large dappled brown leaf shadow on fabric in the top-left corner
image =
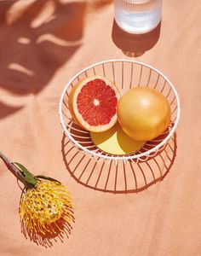
[[[83,44],[86,3],[20,3],[0,3],[0,87],[16,96],[36,95]],[[1,105],[0,118],[18,110]]]

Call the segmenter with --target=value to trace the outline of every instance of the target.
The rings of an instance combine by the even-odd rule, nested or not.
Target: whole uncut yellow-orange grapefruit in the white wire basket
[[[118,101],[118,121],[129,137],[137,141],[150,141],[169,126],[169,102],[158,90],[135,87]]]

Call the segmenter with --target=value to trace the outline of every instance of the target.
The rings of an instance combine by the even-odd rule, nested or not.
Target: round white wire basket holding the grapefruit
[[[118,86],[121,95],[136,86],[147,86],[161,92],[169,101],[171,109],[171,121],[168,129],[156,139],[146,142],[140,150],[133,154],[106,154],[100,148],[95,147],[89,131],[84,131],[74,122],[68,108],[68,99],[73,86],[78,84],[80,80],[93,75],[101,75],[112,80]],[[165,148],[169,139],[173,137],[180,112],[179,96],[169,79],[158,69],[132,60],[100,61],[84,68],[66,84],[60,96],[59,104],[60,124],[74,147],[95,161],[104,160],[107,163],[115,161],[116,165],[118,160],[123,160],[123,162],[130,160],[133,163],[139,163],[158,155]]]

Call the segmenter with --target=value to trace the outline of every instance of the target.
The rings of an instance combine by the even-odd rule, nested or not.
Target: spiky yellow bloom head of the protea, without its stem
[[[72,198],[56,181],[37,179],[35,187],[22,193],[19,213],[23,232],[29,236],[58,236],[72,230]]]

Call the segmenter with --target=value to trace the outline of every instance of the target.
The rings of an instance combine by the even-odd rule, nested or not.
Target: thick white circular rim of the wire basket
[[[131,155],[121,155],[121,156],[115,156],[115,155],[108,155],[108,154],[99,154],[99,153],[95,153],[93,151],[90,151],[88,148],[84,148],[82,145],[80,145],[73,137],[72,135],[67,131],[66,129],[66,125],[63,119],[63,114],[62,114],[62,102],[64,100],[64,96],[66,94],[66,90],[68,88],[68,86],[70,84],[72,84],[72,81],[76,78],[78,78],[78,76],[84,72],[86,72],[87,70],[89,70],[92,67],[95,66],[99,66],[101,64],[106,64],[106,63],[110,63],[110,62],[130,62],[130,63],[135,63],[137,65],[141,65],[144,67],[148,67],[151,68],[152,70],[154,70],[156,73],[158,73],[159,75],[161,75],[170,85],[171,89],[174,91],[175,94],[175,99],[176,99],[176,103],[177,103],[177,114],[176,114],[176,119],[175,119],[175,123],[173,125],[173,127],[171,128],[171,130],[169,131],[169,135],[167,137],[164,138],[164,140],[161,143],[158,143],[158,145],[156,145],[155,147],[147,150],[146,152],[143,152],[141,154],[131,154]],[[180,98],[177,94],[177,91],[175,90],[175,86],[169,81],[169,79],[164,75],[164,73],[162,73],[161,71],[159,71],[157,68],[152,67],[149,64],[146,64],[144,62],[141,61],[134,61],[134,60],[126,60],[126,59],[110,59],[110,60],[106,60],[106,61],[99,61],[99,62],[95,62],[92,65],[89,65],[88,67],[83,68],[81,71],[79,71],[78,73],[76,73],[72,79],[70,79],[68,81],[68,83],[66,84],[66,86],[64,87],[61,95],[60,95],[60,102],[59,102],[59,116],[60,116],[60,125],[62,126],[63,130],[65,131],[66,136],[72,141],[72,143],[74,143],[78,148],[81,148],[83,150],[84,153],[88,153],[88,154],[92,154],[94,157],[100,157],[103,159],[107,159],[107,160],[135,160],[135,159],[141,159],[144,156],[147,156],[149,154],[152,154],[153,152],[156,152],[158,150],[158,148],[161,148],[162,146],[164,146],[165,143],[167,143],[169,141],[169,138],[173,136],[175,129],[178,125],[179,119],[180,119],[180,114],[181,114],[181,105],[180,105]]]

